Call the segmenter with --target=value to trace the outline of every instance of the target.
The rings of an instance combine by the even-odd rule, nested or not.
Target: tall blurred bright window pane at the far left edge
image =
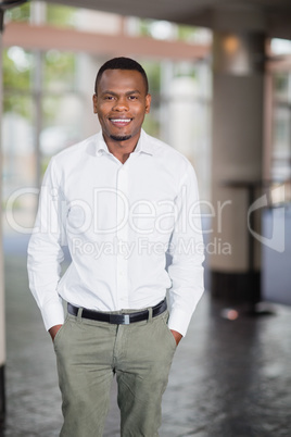
[[[26,234],[35,220],[37,178],[34,102],[30,96],[5,96],[2,120],[2,197],[4,230]]]

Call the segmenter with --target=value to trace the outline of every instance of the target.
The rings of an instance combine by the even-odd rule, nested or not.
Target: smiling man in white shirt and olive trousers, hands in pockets
[[[150,104],[142,66],[107,61],[93,95],[102,132],[54,157],[43,178],[28,273],[56,353],[62,437],[102,436],[114,374],[121,435],[159,435],[173,355],[203,292],[194,171],[142,130]],[[62,246],[72,263],[60,279]]]

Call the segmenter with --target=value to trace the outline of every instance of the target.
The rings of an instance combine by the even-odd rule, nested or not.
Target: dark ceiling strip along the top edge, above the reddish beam
[[[291,39],[291,0],[53,0],[122,15]],[[225,20],[223,18],[225,17]]]

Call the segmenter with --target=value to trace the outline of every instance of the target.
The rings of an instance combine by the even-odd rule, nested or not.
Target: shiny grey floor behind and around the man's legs
[[[58,436],[51,340],[28,291],[24,254],[7,255],[5,264],[8,413],[0,436]],[[291,436],[291,308],[274,308],[274,315],[241,312],[229,321],[204,295],[174,359],[161,437]],[[113,386],[104,437],[118,435]]]

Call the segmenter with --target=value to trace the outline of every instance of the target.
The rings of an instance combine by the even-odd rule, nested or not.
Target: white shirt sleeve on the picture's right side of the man
[[[175,205],[176,221],[168,249],[172,258],[168,266],[172,279],[168,327],[185,336],[204,291],[200,201],[195,173],[190,164]]]

